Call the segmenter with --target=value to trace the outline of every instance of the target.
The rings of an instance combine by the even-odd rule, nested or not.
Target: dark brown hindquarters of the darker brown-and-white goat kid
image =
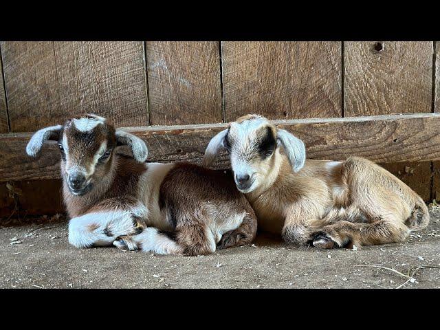
[[[206,204],[219,205],[228,213],[223,218],[233,217],[243,210],[247,214],[239,228],[223,234],[219,248],[248,244],[255,237],[254,210],[244,195],[236,190],[231,173],[189,163],[176,164],[162,182],[159,198],[160,205],[168,210],[168,217],[175,225],[176,241],[184,248],[184,254],[213,252],[207,238],[210,235],[207,227],[213,217]]]

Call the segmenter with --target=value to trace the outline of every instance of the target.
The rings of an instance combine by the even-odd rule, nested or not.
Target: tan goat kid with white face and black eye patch
[[[283,151],[281,151],[283,146]],[[406,184],[361,157],[305,160],[304,143],[260,115],[246,115],[212,138],[203,162],[230,154],[236,186],[259,228],[318,248],[401,242],[425,228],[428,208]]]

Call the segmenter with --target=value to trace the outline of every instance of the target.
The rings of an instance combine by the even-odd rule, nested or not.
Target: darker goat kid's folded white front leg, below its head
[[[111,245],[118,236],[139,234],[144,228],[131,211],[91,212],[69,221],[69,243],[76,248]]]

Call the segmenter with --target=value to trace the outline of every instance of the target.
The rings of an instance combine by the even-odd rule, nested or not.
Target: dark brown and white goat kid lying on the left
[[[256,217],[231,173],[188,163],[146,163],[146,144],[87,115],[37,131],[26,151],[46,140],[61,150],[69,243],[78,248],[197,255],[250,243]],[[129,145],[132,157],[115,153]],[[151,226],[151,227],[150,227]]]

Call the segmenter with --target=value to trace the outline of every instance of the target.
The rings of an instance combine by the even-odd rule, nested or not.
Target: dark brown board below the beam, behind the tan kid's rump
[[[379,164],[404,181],[417,192],[423,201],[429,201],[431,193],[431,162],[399,162]]]

